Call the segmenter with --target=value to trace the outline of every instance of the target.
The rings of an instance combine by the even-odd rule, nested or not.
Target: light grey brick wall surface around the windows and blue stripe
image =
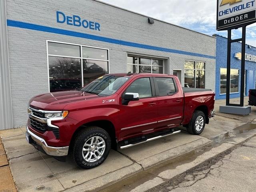
[[[198,54],[216,55],[216,39],[134,14],[93,0],[6,0],[7,19],[108,38],[159,46]],[[56,22],[56,11],[73,14],[100,23],[100,31]],[[26,124],[29,99],[48,92],[46,40],[54,40],[110,49],[110,72],[126,72],[127,53],[169,58],[169,72],[182,70],[184,59],[206,61],[206,88],[215,90],[215,59],[173,54],[142,48],[110,44],[85,38],[40,32],[8,26],[10,77],[14,127]]]

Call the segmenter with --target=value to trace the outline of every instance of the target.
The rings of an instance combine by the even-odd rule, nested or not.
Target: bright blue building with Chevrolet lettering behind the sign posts
[[[227,45],[228,39],[219,35],[216,37],[216,99],[226,98],[227,81]],[[240,97],[241,85],[241,54],[242,43],[233,42],[230,52],[230,98]],[[246,45],[244,70],[244,95],[256,85],[256,47]],[[244,103],[246,104],[246,103]]]

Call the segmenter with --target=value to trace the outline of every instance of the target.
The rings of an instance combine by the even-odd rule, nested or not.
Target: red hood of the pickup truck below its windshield
[[[82,91],[60,91],[34,96],[29,104],[31,107],[42,110],[63,110],[67,104],[99,97]]]

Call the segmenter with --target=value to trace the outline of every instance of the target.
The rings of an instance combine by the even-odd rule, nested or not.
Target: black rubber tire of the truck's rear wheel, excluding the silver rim
[[[196,129],[196,120],[200,116],[202,116],[202,118],[204,119],[203,127],[200,130],[197,130]],[[190,122],[187,126],[187,131],[193,135],[200,135],[204,130],[204,126],[205,126],[205,114],[202,111],[196,110],[192,116],[192,119],[190,120]]]

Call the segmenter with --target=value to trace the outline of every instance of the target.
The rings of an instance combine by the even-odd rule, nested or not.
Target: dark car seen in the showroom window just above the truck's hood
[[[80,79],[58,78],[50,80],[50,92],[68,91],[81,88]]]

